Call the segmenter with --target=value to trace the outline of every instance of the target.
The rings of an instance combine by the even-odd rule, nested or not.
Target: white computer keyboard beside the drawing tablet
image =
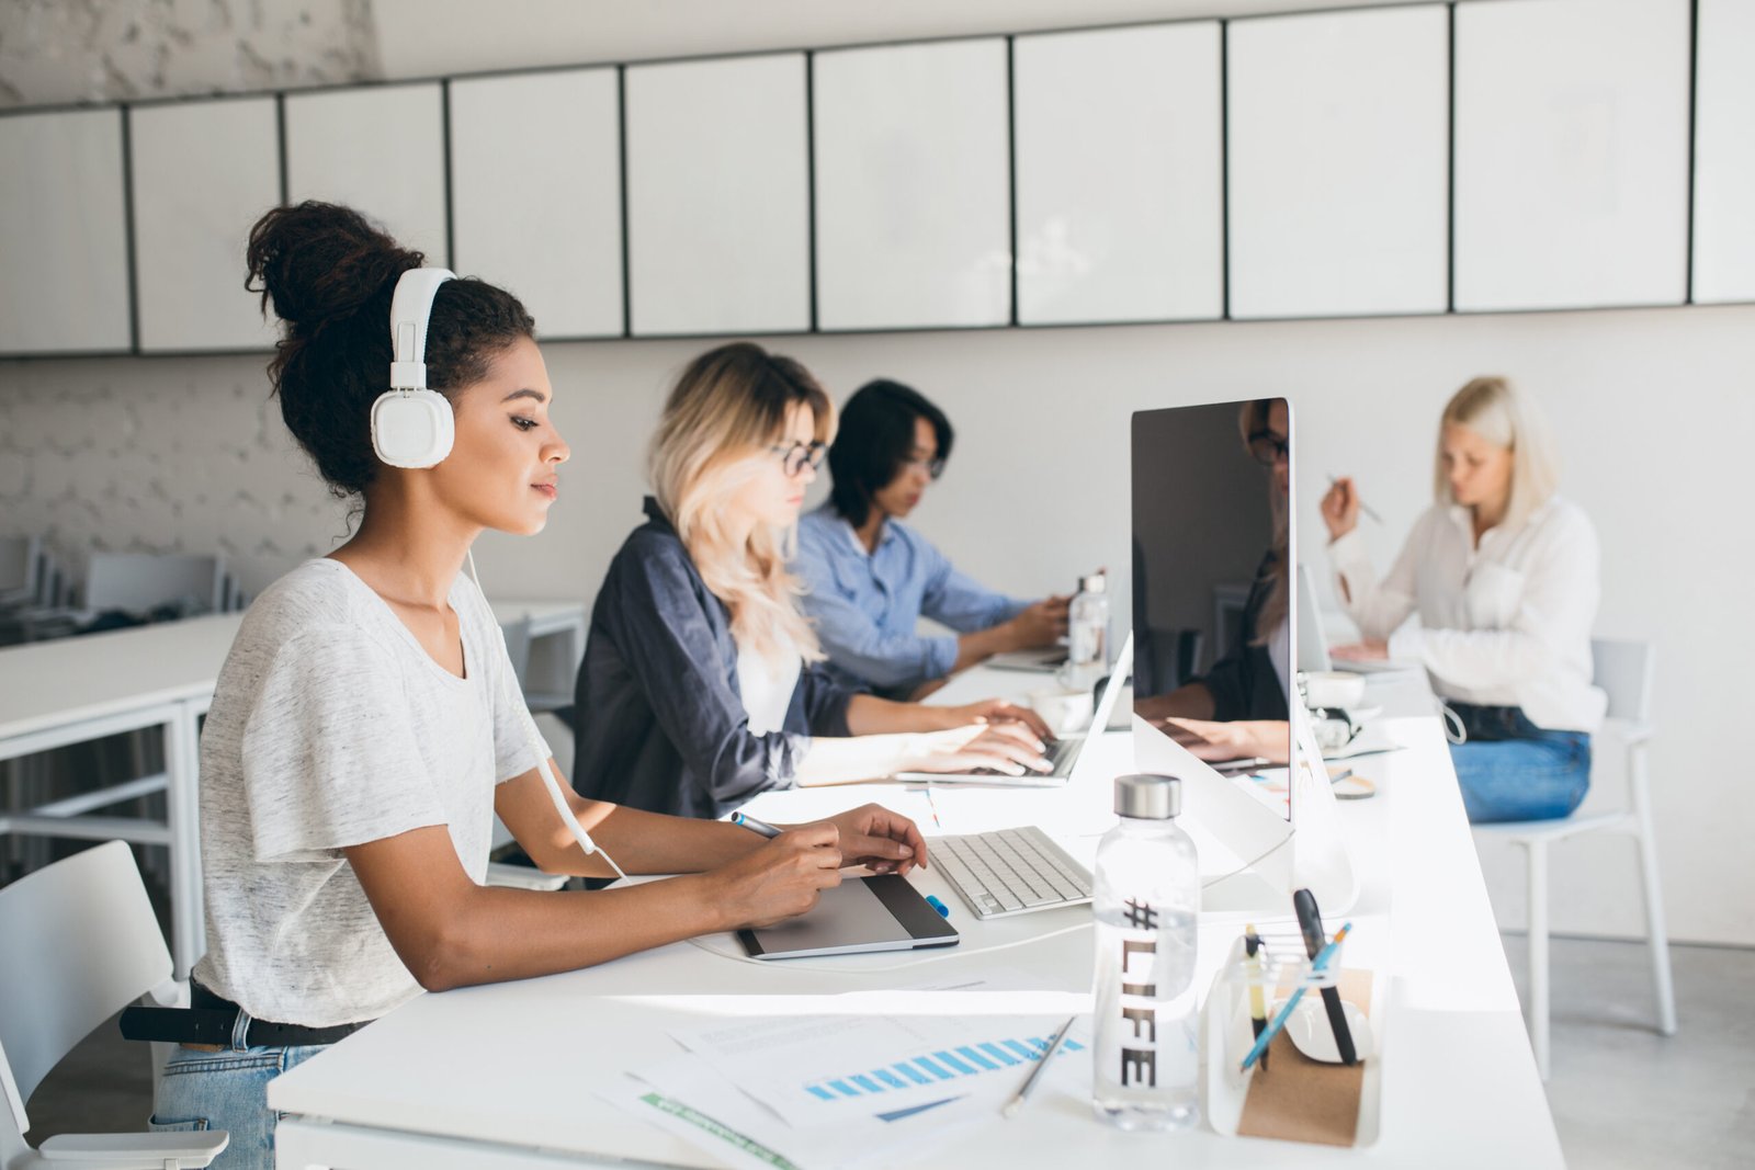
[[[932,868],[976,917],[1006,917],[1092,900],[1092,875],[1034,824],[969,837],[934,837]]]

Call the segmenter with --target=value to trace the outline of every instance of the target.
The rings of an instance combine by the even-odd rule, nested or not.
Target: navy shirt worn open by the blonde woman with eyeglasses
[[[792,788],[813,735],[848,735],[855,691],[811,663],[779,731],[749,733],[732,616],[658,502],[621,544],[579,665],[572,786],[632,809],[720,817]]]

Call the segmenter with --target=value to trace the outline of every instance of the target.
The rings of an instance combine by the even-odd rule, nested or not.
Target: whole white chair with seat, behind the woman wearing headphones
[[[0,1170],[177,1170],[230,1142],[200,1133],[61,1133],[25,1140],[25,1102],[93,1028],[151,995],[181,1000],[133,854],[105,842],[0,888]]]

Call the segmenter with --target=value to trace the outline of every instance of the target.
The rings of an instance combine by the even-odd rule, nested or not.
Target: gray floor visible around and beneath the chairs
[[[1523,938],[1506,937],[1523,979]],[[1674,947],[1674,1037],[1651,1030],[1644,947],[1557,938],[1548,1102],[1580,1168],[1755,1165],[1755,951]],[[147,1047],[98,1028],[30,1102],[40,1142],[68,1130],[139,1130],[151,1110]],[[1509,1168],[1506,1168],[1509,1170]]]

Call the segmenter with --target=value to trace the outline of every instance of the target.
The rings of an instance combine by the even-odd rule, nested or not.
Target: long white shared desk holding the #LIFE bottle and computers
[[[942,698],[972,698],[983,688],[1028,689],[1034,682],[986,672],[946,688]],[[1418,693],[1392,689],[1383,695],[1385,717],[1430,710]],[[934,1163],[1011,1170],[1174,1156],[1178,1166],[1562,1165],[1437,723],[1429,714],[1404,716],[1392,730],[1415,747],[1362,765],[1360,774],[1379,781],[1381,793],[1343,805],[1364,872],[1364,893],[1348,914],[1357,935],[1348,965],[1376,967],[1390,979],[1376,1145],[1339,1151],[1204,1130],[1165,1138],[1116,1133],[1092,1119],[1088,1063],[1069,1059],[1018,1119],[979,1130]],[[1093,833],[1113,821],[1109,779],[1130,761],[1128,737],[1111,735],[1086,753],[1064,789],[937,789],[935,803],[946,831],[1034,821],[1090,854]],[[753,810],[806,819],[865,800],[883,800],[930,826],[925,795],[895,786],[769,793]],[[935,874],[920,872],[918,886],[953,907],[967,951],[1088,921],[1088,910],[1065,909],[979,923],[958,912],[962,903]],[[1202,986],[1236,931],[1232,923],[1202,923]],[[711,942],[735,945],[728,937]],[[425,995],[269,1086],[269,1105],[290,1114],[277,1130],[277,1165],[713,1165],[695,1147],[593,1096],[593,1079],[669,1051],[667,1028],[698,1024],[704,1012],[723,1010],[723,1000],[714,1007],[713,996],[797,996],[765,1000],[762,1010],[813,1010],[813,1000],[814,1010],[828,1010],[816,996],[993,967],[1023,970],[1046,991],[1083,993],[1090,989],[1090,935],[1076,931],[992,958],[956,954],[918,974],[872,974],[897,956],[813,960],[813,970],[788,970],[677,944],[584,972]],[[844,974],[825,974],[825,965]]]

